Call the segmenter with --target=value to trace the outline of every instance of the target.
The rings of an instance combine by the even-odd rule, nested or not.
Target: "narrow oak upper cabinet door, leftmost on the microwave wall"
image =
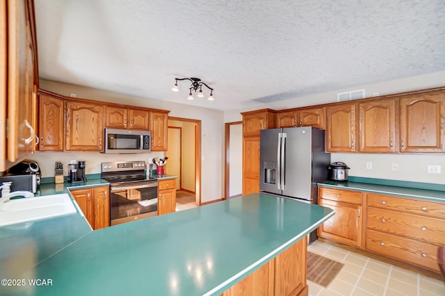
[[[40,94],[40,151],[63,151],[63,101]]]

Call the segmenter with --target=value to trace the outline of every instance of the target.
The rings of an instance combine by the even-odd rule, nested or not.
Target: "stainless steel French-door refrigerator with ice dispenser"
[[[261,192],[317,203],[317,182],[327,179],[330,154],[325,132],[311,126],[264,129],[260,133]],[[309,243],[316,240],[310,233]]]

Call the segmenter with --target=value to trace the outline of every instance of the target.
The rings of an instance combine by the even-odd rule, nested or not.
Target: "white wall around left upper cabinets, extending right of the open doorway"
[[[93,99],[97,101],[108,101],[118,104],[127,104],[131,106],[143,106],[147,108],[158,108],[170,110],[169,116],[201,120],[202,122],[202,202],[209,202],[223,197],[223,143],[224,143],[224,113],[218,110],[199,108],[185,104],[176,104],[170,101],[160,101],[146,97],[133,97],[127,94],[118,94],[105,90],[86,88],[81,85],[70,85],[55,81],[40,80],[40,88],[56,92],[58,94],[70,97],[70,94],[76,94],[76,97],[83,99]],[[88,154],[92,154],[88,156]],[[161,153],[163,156],[163,153]],[[160,157],[161,157],[160,156]],[[133,158],[135,157],[135,158]],[[44,166],[43,176],[54,176],[54,162],[62,161],[66,166],[70,160],[85,160],[90,163],[87,167],[87,174],[99,174],[100,163],[102,161],[122,161],[143,159],[149,157],[141,156],[112,156],[111,154],[99,154],[97,152],[76,152],[76,153],[47,153],[40,152],[33,154],[29,159],[38,161],[39,165]],[[124,159],[123,159],[124,158]],[[47,164],[48,163],[48,164]],[[99,164],[99,165],[97,165]]]

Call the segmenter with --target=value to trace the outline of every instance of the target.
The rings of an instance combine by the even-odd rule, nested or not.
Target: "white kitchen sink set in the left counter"
[[[0,204],[0,227],[77,213],[67,193],[10,199]]]

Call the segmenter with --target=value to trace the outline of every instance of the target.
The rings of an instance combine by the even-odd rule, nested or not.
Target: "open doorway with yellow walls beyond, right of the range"
[[[178,210],[201,205],[201,121],[168,117],[167,174],[178,176]],[[192,204],[193,203],[193,204]]]

